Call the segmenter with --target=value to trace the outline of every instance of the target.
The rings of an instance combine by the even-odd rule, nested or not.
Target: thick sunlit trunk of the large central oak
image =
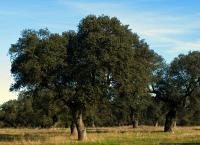
[[[82,116],[82,111],[81,110],[76,110],[74,112],[74,121],[76,124],[76,129],[78,132],[78,140],[83,141],[86,139],[86,129],[85,125],[83,122],[83,116]]]

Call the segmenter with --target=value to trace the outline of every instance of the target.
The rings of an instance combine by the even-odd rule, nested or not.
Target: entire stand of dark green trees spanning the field
[[[117,18],[89,15],[78,31],[24,30],[9,50],[17,100],[3,127],[200,124],[200,52],[170,64]]]

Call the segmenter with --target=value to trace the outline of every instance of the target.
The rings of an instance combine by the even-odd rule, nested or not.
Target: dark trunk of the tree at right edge
[[[172,109],[166,115],[164,132],[173,132],[175,120],[176,120],[176,109]]]

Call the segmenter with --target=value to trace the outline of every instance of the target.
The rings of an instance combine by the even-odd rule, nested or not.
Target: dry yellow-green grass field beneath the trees
[[[87,140],[69,137],[69,129],[0,129],[0,145],[132,145],[132,144],[199,144],[200,127],[176,127],[164,133],[163,127],[140,126],[88,128]]]

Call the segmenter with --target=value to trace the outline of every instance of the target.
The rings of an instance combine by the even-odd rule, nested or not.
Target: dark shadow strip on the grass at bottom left
[[[24,134],[24,135],[0,134],[0,142],[16,141],[16,140],[30,140],[30,141],[45,140],[45,137],[34,134]]]

